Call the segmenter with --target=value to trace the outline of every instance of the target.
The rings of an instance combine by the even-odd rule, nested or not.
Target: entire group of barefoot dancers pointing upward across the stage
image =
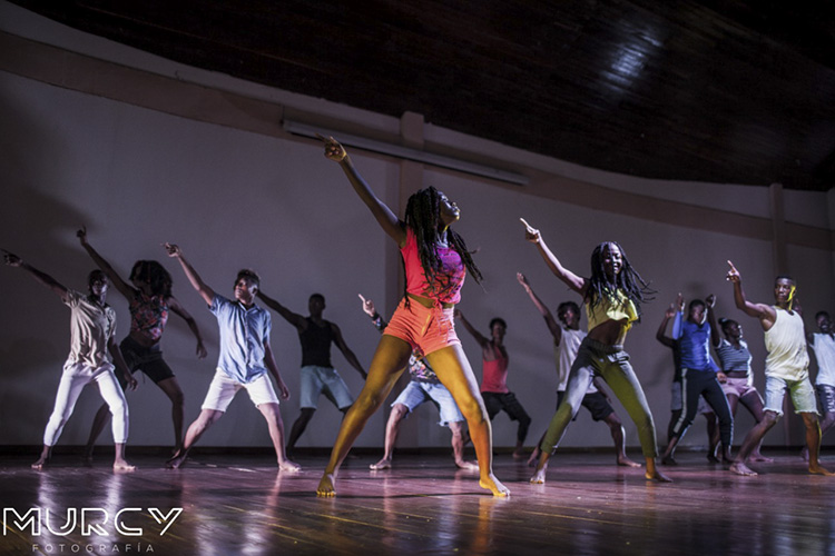
[[[429,187],[409,198],[405,216],[400,219],[374,195],[343,146],[333,138],[323,137],[322,140],[325,157],[342,168],[383,231],[397,244],[405,267],[403,299],[387,321],[376,312],[371,299],[360,296],[362,310],[382,332],[367,374],[345,344],[338,327],[323,318],[323,296],[311,296],[310,317],[303,317],[262,292],[258,275],[244,269],[235,278],[234,299],[228,299],[203,281],[180,247],[165,244],[167,255],[179,262],[190,285],[217,318],[219,329],[215,375],[198,417],[183,435],[183,390],[163,359],[159,342],[169,311],[174,311],[187,322],[197,340],[196,355],[204,358],[206,349],[200,330],[171,295],[170,275],[159,262],[137,261],[128,281],[125,281],[90,246],[82,228],[78,231],[80,244],[99,267],[88,277],[86,295],[66,288],[20,257],[3,251],[7,265],[27,270],[58,294],[71,310],[70,355],[63,366],[55,409],[43,435],[40,458],[32,467],[41,468],[47,464],[81,389],[96,381],[106,405],[96,415],[86,455],[92,456],[92,446],[109,413],[116,444],[114,467],[132,469],[125,459],[128,405],[124,390],[136,388],[132,373],[140,369],[171,401],[175,454],[167,465],[173,468],[186,460],[189,449],[224,415],[237,391],[245,388],[267,423],[278,467],[285,471],[298,470],[298,464],[292,459],[293,448],[313,417],[320,395],[324,393],[344,413],[316,489],[320,496],[334,496],[337,473],[351,446],[369,418],[385,401],[403,370],[409,369],[411,380],[392,404],[385,430],[384,456],[371,468],[391,467],[400,424],[419,405],[430,400],[439,407],[441,424],[449,426],[452,433],[455,465],[478,469],[480,486],[493,495],[510,494],[493,474],[491,419],[504,410],[511,419],[519,421],[517,457],[522,457],[531,419],[507,387],[508,353],[502,342],[507,324],[502,319],[493,319],[490,322],[490,337],[485,337],[455,308],[461,300],[465,275],[472,276],[477,282],[482,278],[466,244],[452,228],[461,216],[460,209],[445,195]],[[647,479],[670,480],[661,473],[659,464],[675,465],[675,448],[698,413],[709,417],[713,441],[708,456],[717,460],[720,458],[736,474],[756,475],[746,463],[767,459],[759,454],[759,445],[783,415],[786,391],[790,394],[795,410],[806,425],[805,457],[809,471],[829,475],[818,460],[822,429],[815,389],[808,378],[807,338],[798,308],[793,306],[795,282],[792,278],[783,276],[776,279],[774,304],[755,304],[746,298],[740,274],[728,261],[726,278],[733,284],[736,306],[759,320],[765,332],[768,351],[765,406],[752,384],[750,354],[741,339],[741,327],[734,320],[717,324],[713,310],[714,296],[690,301],[685,316],[684,299],[679,295],[665,312],[658,339],[674,348],[677,380],[672,385],[668,445],[659,461],[655,421],[629,363],[629,355],[623,349],[627,332],[640,317],[641,304],[650,292],[647,282],[615,241],[602,242],[593,249],[590,276],[582,277],[562,266],[539,230],[523,219],[521,222],[525,239],[536,247],[554,276],[580,296],[589,330],[586,334],[579,328],[578,304],[561,304],[554,319],[528,279],[521,274],[517,276],[546,320],[553,337],[558,363],[557,411],[530,456],[529,463],[536,465],[531,483],[544,483],[549,459],[581,406],[589,409],[595,420],[603,421],[610,428],[618,465],[641,467],[626,455],[622,421],[611,407],[603,384],[618,397],[637,426]],[[129,302],[130,331],[120,345],[115,341],[115,312],[106,302],[110,285]],[[293,325],[302,344],[302,409],[287,441],[278,405],[279,397],[287,399],[289,391],[269,344],[271,315],[256,305],[256,299]],[[482,348],[484,367],[481,386],[456,336],[456,318]],[[668,337],[666,329],[670,320],[674,321],[672,336]],[[829,370],[835,371],[835,335],[829,317],[822,312],[816,320],[821,334],[812,335],[808,345],[816,351],[822,373],[824,360],[828,361]],[[720,329],[725,338],[719,336]],[[356,400],[331,364],[332,344],[365,379]],[[711,346],[721,366],[714,363]],[[824,430],[835,421],[835,377],[831,377],[828,383],[832,384],[823,384],[822,388],[818,380],[818,395],[826,415]],[[707,406],[700,407],[699,400],[705,400]],[[739,401],[753,413],[757,424],[734,458],[730,454],[733,415]],[[472,441],[478,463],[464,459],[464,445],[469,441]]]

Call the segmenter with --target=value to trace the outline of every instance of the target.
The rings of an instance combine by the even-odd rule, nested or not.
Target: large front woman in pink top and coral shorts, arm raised
[[[469,271],[477,281],[481,279],[464,240],[450,228],[460,217],[459,208],[429,187],[409,198],[405,221],[401,221],[374,195],[342,145],[332,137],[321,139],[325,157],[340,165],[377,224],[397,242],[405,264],[406,291],[380,340],[365,386],[342,421],[316,494],[336,494],[336,473],[351,445],[389,396],[412,350],[420,349],[466,419],[479,460],[479,485],[494,496],[508,496],[508,488],[493,475],[490,419],[455,335],[453,311],[461,299],[464,275]]]

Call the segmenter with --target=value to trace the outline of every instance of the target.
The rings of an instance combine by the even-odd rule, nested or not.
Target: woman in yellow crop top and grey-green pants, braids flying
[[[522,219],[525,239],[534,244],[551,271],[573,289],[586,304],[589,334],[582,340],[571,370],[566,397],[548,426],[540,445],[542,450],[531,483],[546,481],[551,453],[558,446],[571,419],[580,409],[582,397],[597,375],[606,380],[638,427],[648,479],[669,481],[658,470],[656,427],[647,398],[623,351],[623,340],[640,315],[640,302],[649,291],[647,282],[631,267],[623,249],[615,241],[600,244],[591,254],[591,278],[582,278],[564,268],[546,245],[539,230]]]

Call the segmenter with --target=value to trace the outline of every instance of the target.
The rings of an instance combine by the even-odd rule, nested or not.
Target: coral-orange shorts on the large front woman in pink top
[[[450,307],[428,308],[410,300],[409,308],[405,307],[405,298],[394,310],[384,335],[394,336],[412,346],[423,355],[445,348],[448,346],[461,345],[455,334],[455,309]]]

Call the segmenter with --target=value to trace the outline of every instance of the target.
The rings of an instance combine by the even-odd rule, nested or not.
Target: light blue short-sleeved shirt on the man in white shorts
[[[247,309],[217,294],[209,310],[220,330],[217,367],[239,383],[252,383],[266,373],[264,342],[273,328],[269,312],[255,305]]]

